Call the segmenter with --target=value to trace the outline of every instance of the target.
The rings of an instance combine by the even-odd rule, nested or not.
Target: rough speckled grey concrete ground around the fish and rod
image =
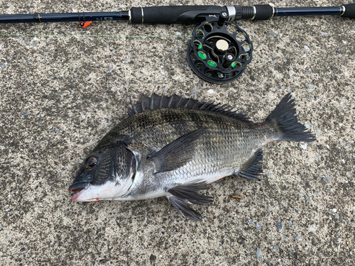
[[[266,3],[1,0],[0,13]],[[253,60],[223,85],[204,82],[187,64],[195,26],[0,25],[1,265],[354,265],[355,20],[238,24],[253,42]],[[263,181],[212,184],[214,203],[195,206],[202,222],[163,198],[73,203],[68,187],[84,157],[126,117],[129,96],[153,89],[239,106],[253,121],[292,92],[317,140],[268,144]]]

